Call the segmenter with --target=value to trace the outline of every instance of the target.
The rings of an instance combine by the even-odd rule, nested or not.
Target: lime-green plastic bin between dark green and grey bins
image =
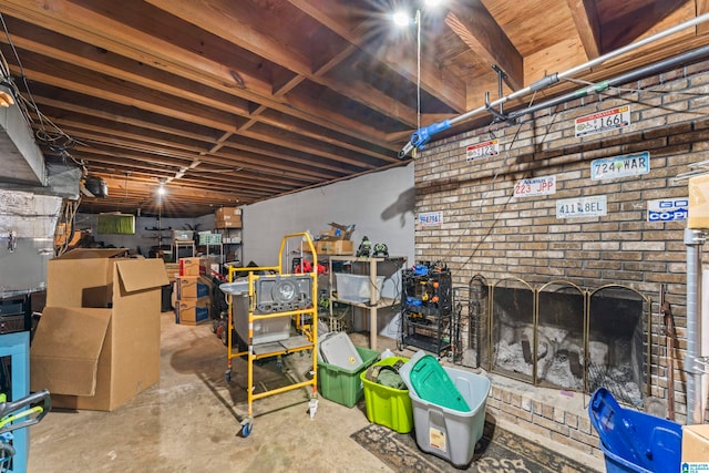
[[[392,367],[408,358],[389,357],[373,366]],[[413,408],[408,389],[394,389],[367,379],[367,370],[360,373],[364,389],[367,419],[399,433],[409,433],[413,429]]]

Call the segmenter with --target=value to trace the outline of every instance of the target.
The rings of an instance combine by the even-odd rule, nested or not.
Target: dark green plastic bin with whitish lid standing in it
[[[347,369],[318,359],[318,391],[325,399],[353,408],[362,399],[363,385],[359,374],[379,357],[379,351],[354,347],[362,358],[359,368]]]

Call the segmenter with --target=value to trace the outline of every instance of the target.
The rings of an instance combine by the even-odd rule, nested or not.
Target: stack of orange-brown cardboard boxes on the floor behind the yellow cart
[[[209,320],[212,309],[212,278],[206,276],[209,260],[206,258],[179,258],[176,279],[175,322],[187,326]]]

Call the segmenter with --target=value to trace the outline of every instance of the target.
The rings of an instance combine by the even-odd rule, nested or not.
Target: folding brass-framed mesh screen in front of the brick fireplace
[[[474,343],[483,367],[548,388],[590,393],[605,387],[617,399],[643,405],[649,385],[649,298],[619,285],[589,291],[552,281],[534,289],[522,279],[503,279],[490,287],[489,310],[477,310],[490,313],[490,349],[480,337]],[[477,333],[484,333],[480,321]]]

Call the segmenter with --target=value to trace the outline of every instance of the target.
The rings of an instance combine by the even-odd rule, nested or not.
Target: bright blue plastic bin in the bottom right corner
[[[590,398],[588,417],[608,473],[679,471],[682,426],[677,422],[621,408],[605,388]]]

